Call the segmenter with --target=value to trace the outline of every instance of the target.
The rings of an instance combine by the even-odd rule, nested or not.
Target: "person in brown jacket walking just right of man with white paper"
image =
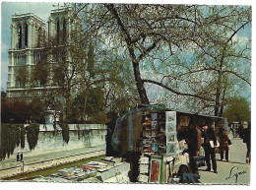
[[[219,134],[219,142],[220,142],[220,152],[221,152],[221,160],[225,160],[228,161],[228,150],[229,150],[229,146],[228,146],[228,141],[230,141],[226,131],[224,130],[224,126],[221,126]]]

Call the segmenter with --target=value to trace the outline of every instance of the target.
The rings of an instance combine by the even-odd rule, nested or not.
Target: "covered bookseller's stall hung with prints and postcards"
[[[180,175],[191,172],[183,135],[190,119],[198,128],[211,123],[216,132],[226,123],[222,117],[142,104],[109,127],[106,155],[126,158],[131,163],[131,182],[180,182]]]

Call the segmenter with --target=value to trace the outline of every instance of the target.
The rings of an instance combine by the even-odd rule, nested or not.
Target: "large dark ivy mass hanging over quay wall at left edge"
[[[0,160],[9,158],[21,143],[22,124],[1,124]]]

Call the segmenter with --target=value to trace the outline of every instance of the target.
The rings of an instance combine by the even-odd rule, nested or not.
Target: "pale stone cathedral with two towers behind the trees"
[[[52,84],[31,85],[31,73],[34,66],[47,59],[44,44],[51,36],[59,32],[69,32],[74,27],[70,22],[74,14],[71,6],[51,10],[45,22],[33,13],[15,14],[11,24],[11,49],[9,49],[9,67],[7,97],[43,96],[57,87]]]

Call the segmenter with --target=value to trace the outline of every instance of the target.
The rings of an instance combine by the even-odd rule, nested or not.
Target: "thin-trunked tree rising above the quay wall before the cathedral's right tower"
[[[70,122],[72,95],[85,74],[86,44],[81,40],[81,32],[76,31],[61,40],[62,45],[56,40],[58,37],[49,38],[45,53],[49,55],[47,64],[51,67],[51,83],[58,86],[59,95],[64,97],[63,119]]]

